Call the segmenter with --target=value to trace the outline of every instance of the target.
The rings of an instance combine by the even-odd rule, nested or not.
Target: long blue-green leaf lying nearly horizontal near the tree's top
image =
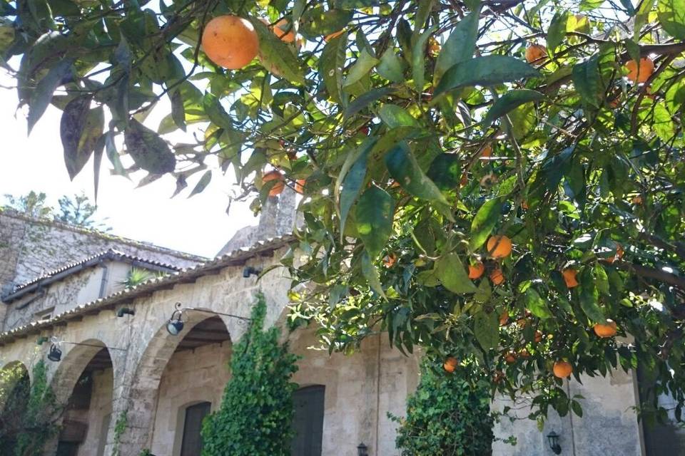
[[[540,76],[528,63],[509,56],[476,57],[450,67],[435,88],[435,96],[468,86],[494,86]]]

